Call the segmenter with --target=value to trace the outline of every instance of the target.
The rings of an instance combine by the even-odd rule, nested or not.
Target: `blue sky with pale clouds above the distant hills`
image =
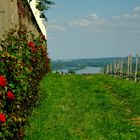
[[[46,11],[51,59],[140,55],[140,0],[54,0]]]

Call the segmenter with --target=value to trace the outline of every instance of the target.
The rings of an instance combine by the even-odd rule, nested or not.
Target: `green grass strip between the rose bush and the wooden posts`
[[[49,74],[24,140],[139,140],[140,84],[104,75]]]

